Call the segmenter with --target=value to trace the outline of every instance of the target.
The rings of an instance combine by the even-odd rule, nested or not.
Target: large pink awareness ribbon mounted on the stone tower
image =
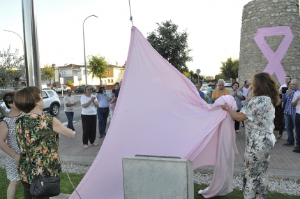
[[[280,43],[276,52],[273,52],[269,45],[267,44],[266,40],[264,40],[264,36],[278,36],[284,35],[283,41]],[[263,28],[258,29],[257,33],[255,34],[254,40],[264,57],[269,61],[269,64],[266,68],[264,68],[264,72],[273,75],[275,73],[276,77],[278,78],[281,85],[285,84],[285,70],[281,65],[281,60],[285,56],[294,35],[290,27],[271,27],[271,28]]]

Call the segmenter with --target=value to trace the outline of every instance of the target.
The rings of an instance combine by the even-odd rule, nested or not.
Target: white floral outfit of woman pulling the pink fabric
[[[244,198],[267,198],[268,165],[273,148],[275,108],[271,98],[255,96],[246,103],[241,112],[246,114],[246,147],[243,168]]]

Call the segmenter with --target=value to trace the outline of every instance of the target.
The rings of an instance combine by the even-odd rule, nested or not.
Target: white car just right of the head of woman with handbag
[[[59,115],[59,108],[61,107],[61,102],[59,101],[59,96],[52,89],[43,89],[42,98],[45,104],[43,112],[50,112],[51,115]]]

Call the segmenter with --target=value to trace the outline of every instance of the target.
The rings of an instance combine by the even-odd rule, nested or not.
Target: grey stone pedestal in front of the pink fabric
[[[124,198],[194,198],[193,162],[151,156],[123,158]]]

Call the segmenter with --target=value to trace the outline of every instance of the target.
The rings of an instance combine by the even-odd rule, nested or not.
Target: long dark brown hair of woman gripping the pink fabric
[[[269,96],[274,107],[278,105],[279,89],[269,73],[257,73],[252,77],[253,95]]]

